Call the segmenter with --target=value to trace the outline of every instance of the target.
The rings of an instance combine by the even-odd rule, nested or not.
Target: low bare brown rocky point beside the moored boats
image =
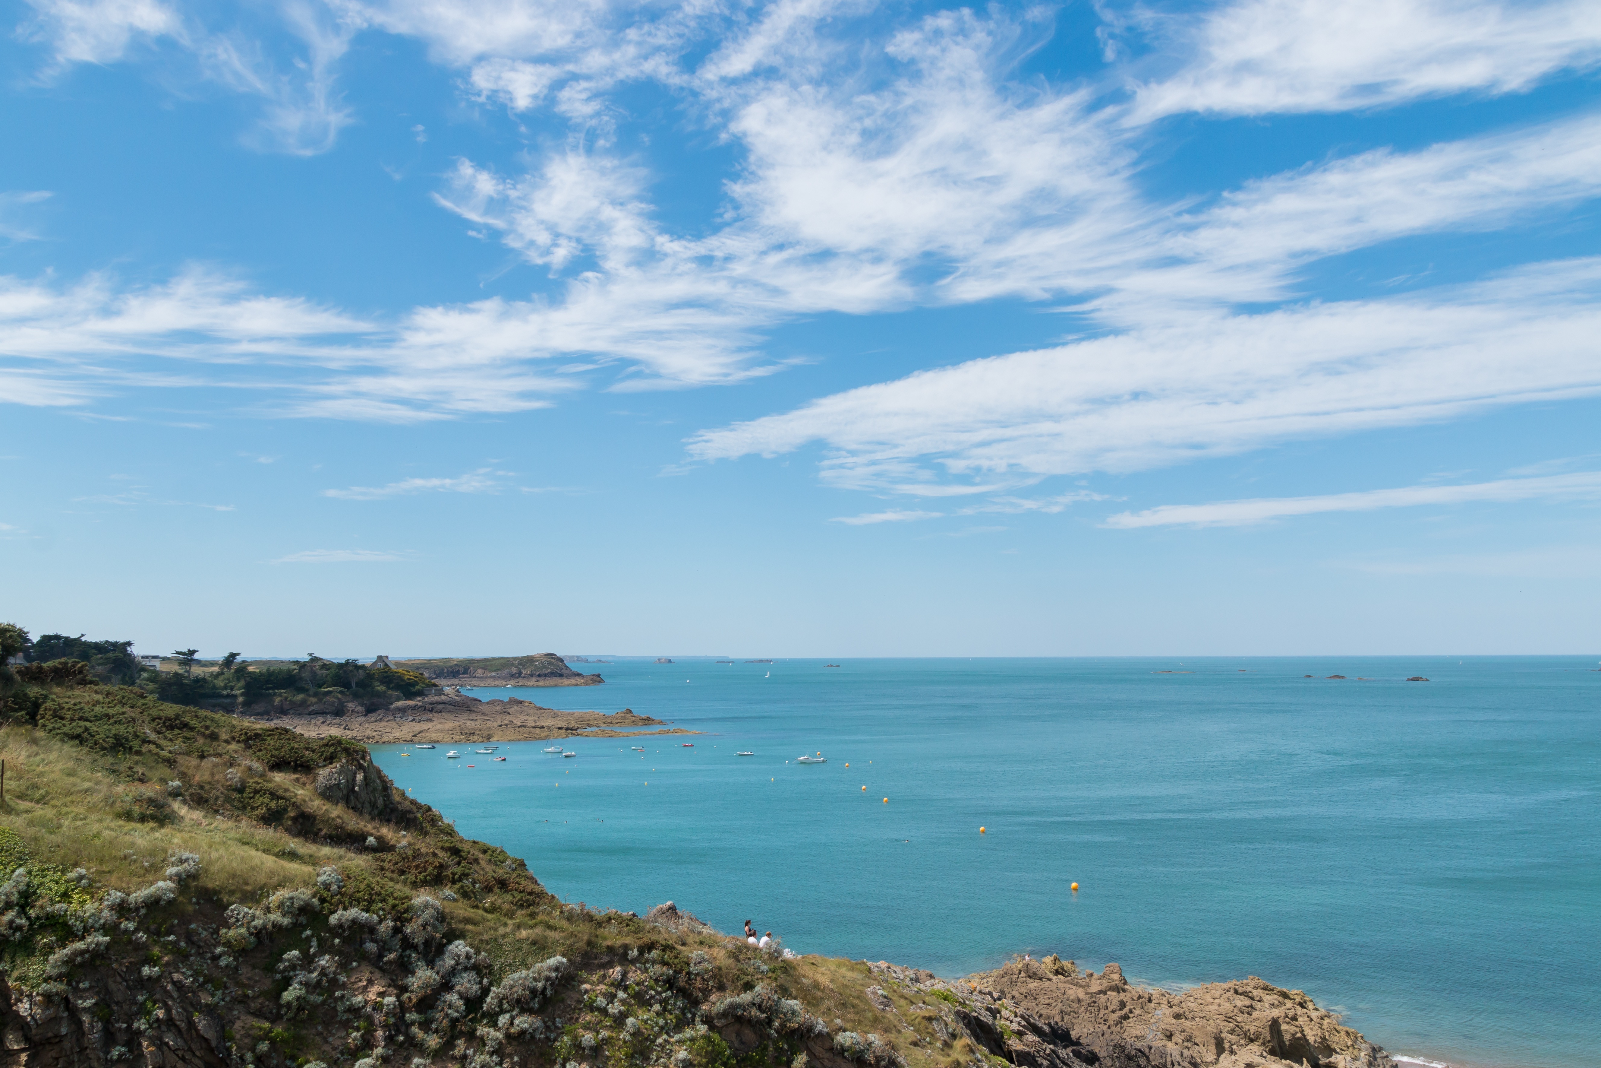
[[[311,738],[341,737],[365,745],[389,741],[536,741],[544,738],[632,738],[636,735],[692,735],[660,719],[624,708],[620,713],[564,713],[522,698],[484,701],[445,690],[383,708],[360,701],[327,703],[312,709],[266,711],[253,716]]]

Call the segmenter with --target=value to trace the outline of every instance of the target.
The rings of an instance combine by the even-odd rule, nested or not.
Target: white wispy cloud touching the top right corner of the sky
[[[1135,120],[1516,93],[1601,62],[1601,8],[1588,0],[1241,0],[1158,22],[1182,66],[1137,86]]]

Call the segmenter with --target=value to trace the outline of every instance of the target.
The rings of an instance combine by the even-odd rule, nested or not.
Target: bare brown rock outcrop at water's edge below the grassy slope
[[[973,975],[980,990],[1052,1025],[1113,1065],[1164,1068],[1394,1068],[1359,1033],[1298,990],[1257,977],[1172,994],[1130,985],[1108,964],[1079,975],[1071,962],[1013,961]]]

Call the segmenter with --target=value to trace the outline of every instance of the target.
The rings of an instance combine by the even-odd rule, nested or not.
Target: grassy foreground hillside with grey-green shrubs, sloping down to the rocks
[[[94,684],[0,713],[0,1063],[997,1060],[948,985],[564,905],[341,738]]]

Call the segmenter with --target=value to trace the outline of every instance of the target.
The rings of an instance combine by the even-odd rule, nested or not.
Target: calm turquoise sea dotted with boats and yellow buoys
[[[1596,1063],[1595,658],[839,664],[620,660],[602,687],[477,692],[629,706],[695,748],[375,756],[570,901],[671,898],[941,975],[1013,953],[1260,975],[1396,1054]]]

